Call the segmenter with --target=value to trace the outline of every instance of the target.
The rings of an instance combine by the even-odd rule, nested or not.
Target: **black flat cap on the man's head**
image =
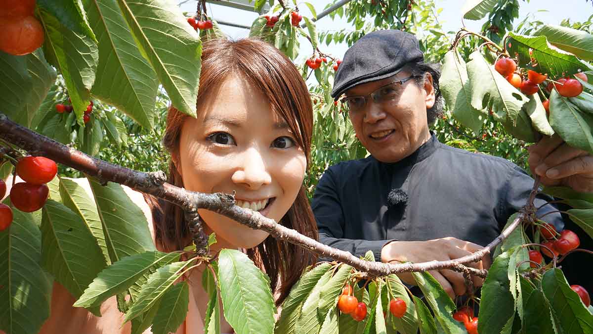
[[[410,62],[423,61],[416,36],[400,30],[378,30],[357,40],[344,55],[331,97],[363,83],[397,74]]]

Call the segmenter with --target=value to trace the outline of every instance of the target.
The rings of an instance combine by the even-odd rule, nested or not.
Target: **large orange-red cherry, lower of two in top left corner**
[[[35,51],[43,44],[43,26],[33,16],[0,20],[0,50],[14,56]]]

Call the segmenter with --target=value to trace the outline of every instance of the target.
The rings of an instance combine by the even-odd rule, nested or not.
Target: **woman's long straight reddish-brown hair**
[[[243,75],[269,98],[272,110],[288,122],[298,145],[305,152],[308,165],[313,108],[307,85],[290,59],[262,40],[208,40],[202,48],[197,112],[200,112],[209,97],[214,96],[213,90],[218,89],[232,74]],[[181,126],[187,117],[175,108],[169,109],[163,143],[173,156],[177,155]],[[183,187],[175,163],[171,159],[168,182]],[[154,198],[147,198],[147,202],[152,207],[158,248],[164,251],[182,250],[192,241],[180,207]],[[170,217],[172,219],[167,219]],[[317,240],[317,225],[302,185],[297,199],[279,223]],[[277,305],[286,298],[305,268],[316,261],[310,251],[271,236],[257,247],[248,249],[247,255],[270,277],[272,290],[278,296]]]

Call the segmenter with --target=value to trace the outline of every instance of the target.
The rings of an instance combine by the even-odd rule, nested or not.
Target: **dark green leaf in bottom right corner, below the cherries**
[[[572,291],[562,270],[554,268],[544,273],[541,288],[565,333],[593,333],[593,315]]]

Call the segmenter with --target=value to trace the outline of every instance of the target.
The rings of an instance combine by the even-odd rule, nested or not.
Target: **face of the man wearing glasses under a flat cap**
[[[364,107],[358,111],[350,108],[350,121],[362,145],[382,162],[398,162],[431,137],[426,121],[426,109],[435,103],[431,75],[427,75],[423,87],[416,84],[415,78],[390,85],[410,75],[400,71],[393,77],[360,84],[346,91],[347,97],[366,96]],[[373,92],[378,92],[384,99],[375,102],[368,96]]]

